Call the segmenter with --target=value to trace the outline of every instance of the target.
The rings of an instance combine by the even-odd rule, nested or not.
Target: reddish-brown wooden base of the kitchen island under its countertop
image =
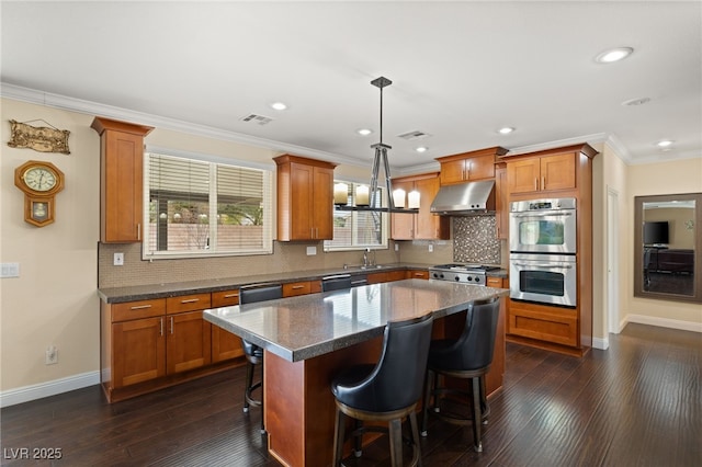
[[[269,452],[283,465],[317,466],[332,460],[335,399],[332,379],[344,368],[376,363],[383,338],[288,362],[265,352],[265,429]]]

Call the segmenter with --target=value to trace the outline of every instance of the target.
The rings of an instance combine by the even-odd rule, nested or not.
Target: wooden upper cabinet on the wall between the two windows
[[[279,156],[278,240],[331,240],[335,163]]]

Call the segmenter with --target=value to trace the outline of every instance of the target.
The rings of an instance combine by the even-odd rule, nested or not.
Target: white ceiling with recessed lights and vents
[[[370,164],[370,81],[385,76],[383,140],[400,172],[492,146],[608,140],[629,163],[702,157],[700,1],[3,0],[0,14],[4,96]],[[635,52],[595,62],[618,46]],[[273,121],[241,121],[251,113]],[[412,130],[431,136],[397,137]]]

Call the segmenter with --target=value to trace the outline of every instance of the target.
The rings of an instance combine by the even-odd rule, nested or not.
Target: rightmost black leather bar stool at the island
[[[489,408],[485,396],[485,375],[490,369],[495,351],[495,335],[500,314],[499,297],[476,301],[466,311],[465,328],[458,339],[431,341],[427,365],[427,391],[423,400],[421,435],[427,436],[429,400],[433,395],[433,412],[440,419],[454,424],[473,424],[476,452],[483,451],[482,423],[487,423]],[[439,387],[439,376],[471,379],[471,391]],[[468,399],[471,419],[453,413],[442,413],[439,405],[442,395],[472,395]],[[485,420],[485,421],[484,421]]]

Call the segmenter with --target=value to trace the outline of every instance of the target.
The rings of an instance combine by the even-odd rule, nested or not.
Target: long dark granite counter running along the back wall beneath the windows
[[[179,295],[206,294],[212,292],[239,288],[247,285],[262,285],[267,283],[285,284],[298,281],[316,281],[325,276],[335,274],[365,275],[397,270],[426,270],[428,267],[431,267],[431,264],[390,263],[383,264],[380,267],[370,266],[366,269],[361,269],[359,266],[350,266],[346,270],[340,266],[324,270],[292,271],[241,277],[222,277],[202,281],[144,284],[126,287],[103,287],[98,289],[98,296],[100,297],[100,299],[107,304],[118,304],[124,301],[176,297]],[[488,275],[496,277],[506,277],[507,271],[491,271],[488,273]]]

